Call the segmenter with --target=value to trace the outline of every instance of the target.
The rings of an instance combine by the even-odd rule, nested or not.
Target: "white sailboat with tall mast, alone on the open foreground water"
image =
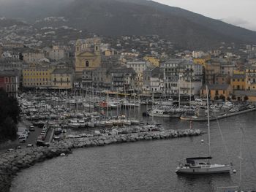
[[[211,164],[211,137],[210,137],[210,115],[208,101],[208,86],[206,85],[207,94],[207,115],[208,115],[208,156],[187,158],[186,164],[178,164],[176,174],[230,174],[230,164]]]

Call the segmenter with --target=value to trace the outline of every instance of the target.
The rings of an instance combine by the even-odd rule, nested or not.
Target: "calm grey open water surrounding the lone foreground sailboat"
[[[241,185],[256,188],[256,112],[220,120],[228,154],[217,122],[211,122],[213,163],[234,164],[236,174],[177,176],[177,160],[207,155],[207,135],[150,142],[124,143],[75,150],[72,155],[36,164],[15,177],[11,191],[216,191],[238,185],[240,128],[244,128]],[[177,119],[156,119],[165,128],[188,128]],[[207,130],[206,123],[193,128]],[[201,143],[201,139],[205,142]]]

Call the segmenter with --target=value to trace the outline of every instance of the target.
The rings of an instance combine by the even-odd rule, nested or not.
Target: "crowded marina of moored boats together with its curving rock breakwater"
[[[198,123],[207,120],[206,105],[198,100],[186,106],[176,105],[177,102],[170,99],[153,97],[141,101],[135,96],[117,98],[108,96],[108,93],[93,97],[51,93],[42,99],[44,94],[23,93],[18,98],[22,119],[28,122],[26,125],[41,132],[34,143],[25,141],[22,147],[2,153],[1,188],[6,191],[21,170],[53,157],[68,156],[73,149],[195,136],[202,138],[206,131],[197,122],[193,126],[192,123],[183,123],[184,120]],[[163,108],[168,112],[161,112]],[[185,115],[192,114],[189,109],[194,109],[194,115],[188,118]],[[209,110],[210,120],[228,120],[254,111],[253,104],[231,102],[211,104]],[[147,113],[149,116],[143,116]],[[170,122],[180,125],[172,129],[167,126]],[[201,143],[203,141],[201,139]]]

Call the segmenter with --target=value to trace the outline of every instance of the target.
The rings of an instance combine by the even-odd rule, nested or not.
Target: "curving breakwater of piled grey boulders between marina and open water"
[[[10,191],[12,178],[23,169],[50,158],[58,157],[62,153],[69,154],[81,147],[99,147],[121,144],[124,142],[151,141],[159,139],[175,139],[181,137],[195,137],[203,134],[199,129],[151,131],[134,134],[99,135],[94,137],[64,139],[51,143],[50,147],[30,147],[13,150],[1,154],[0,157],[0,191]]]

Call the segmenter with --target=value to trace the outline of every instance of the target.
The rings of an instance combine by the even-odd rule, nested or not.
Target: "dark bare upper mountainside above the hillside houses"
[[[182,47],[194,49],[219,47],[221,42],[256,43],[255,31],[155,1],[22,1],[26,1],[26,9],[32,8],[32,10],[14,12],[13,15],[16,17],[36,19],[47,16],[64,16],[69,20],[69,26],[105,36],[158,34]],[[29,4],[28,1],[34,1],[34,3]],[[1,9],[4,7],[0,8],[0,12]],[[10,12],[8,14],[11,15]]]

